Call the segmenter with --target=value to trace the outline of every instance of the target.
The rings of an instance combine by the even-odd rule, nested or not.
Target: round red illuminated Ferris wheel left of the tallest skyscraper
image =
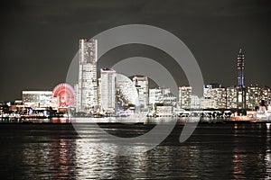
[[[59,107],[74,105],[74,94],[72,86],[67,83],[61,83],[52,90],[52,97],[57,98]]]

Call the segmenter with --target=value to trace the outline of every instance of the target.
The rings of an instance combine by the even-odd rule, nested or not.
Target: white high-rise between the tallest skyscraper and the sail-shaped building
[[[100,104],[106,112],[116,111],[116,71],[109,68],[100,69]]]

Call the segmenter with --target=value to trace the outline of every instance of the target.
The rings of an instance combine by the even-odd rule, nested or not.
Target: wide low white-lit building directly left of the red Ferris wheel
[[[55,107],[52,91],[23,91],[23,105],[32,108]]]

